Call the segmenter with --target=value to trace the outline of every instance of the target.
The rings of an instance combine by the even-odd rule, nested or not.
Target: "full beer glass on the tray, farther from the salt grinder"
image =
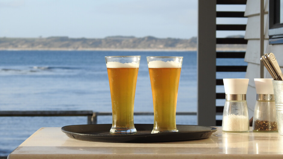
[[[105,56],[112,101],[110,133],[136,133],[134,126],[135,87],[141,56]]]

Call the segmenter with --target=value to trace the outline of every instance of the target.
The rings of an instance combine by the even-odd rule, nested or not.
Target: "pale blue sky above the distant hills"
[[[197,0],[0,0],[0,37],[115,35],[197,36]]]

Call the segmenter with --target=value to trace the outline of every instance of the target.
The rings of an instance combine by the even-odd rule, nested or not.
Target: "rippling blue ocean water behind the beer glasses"
[[[135,112],[153,112],[146,56],[183,56],[177,112],[197,111],[196,51],[0,51],[0,111],[92,110],[111,112],[104,56],[141,55]],[[217,59],[217,65],[247,65],[241,58]],[[207,69],[210,67],[208,66]],[[244,78],[244,72],[216,74]],[[216,87],[224,92],[223,86]],[[223,100],[216,105],[224,105]],[[86,117],[0,117],[0,156],[7,156],[41,127],[87,124]],[[112,116],[98,116],[98,124]],[[153,116],[134,123],[153,124]],[[176,124],[196,125],[196,116],[176,116]]]

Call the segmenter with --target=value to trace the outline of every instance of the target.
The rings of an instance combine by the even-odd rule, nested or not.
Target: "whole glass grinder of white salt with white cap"
[[[247,87],[249,79],[223,79],[226,101],[223,110],[222,131],[249,132]]]

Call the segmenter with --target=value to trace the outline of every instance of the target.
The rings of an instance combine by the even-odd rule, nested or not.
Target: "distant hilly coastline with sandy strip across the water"
[[[238,38],[238,37],[237,37]],[[216,45],[218,51],[244,51],[246,45]],[[89,50],[89,51],[196,51],[197,38],[113,36],[106,38],[0,38],[0,50]]]

